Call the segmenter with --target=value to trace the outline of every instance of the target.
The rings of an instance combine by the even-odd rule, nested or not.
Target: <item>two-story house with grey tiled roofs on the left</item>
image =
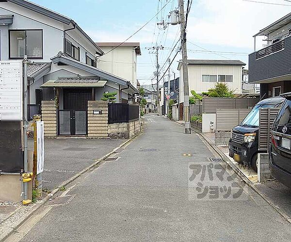
[[[74,115],[75,110],[87,110],[87,101],[100,100],[104,92],[116,92],[116,102],[133,102],[138,90],[131,78],[97,68],[96,58],[103,55],[71,18],[27,0],[0,1],[0,59],[27,56],[31,61],[31,107],[57,99],[60,110]],[[35,110],[30,111],[32,116]]]

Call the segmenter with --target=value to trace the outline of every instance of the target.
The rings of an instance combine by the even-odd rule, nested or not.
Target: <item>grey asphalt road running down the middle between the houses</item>
[[[71,201],[53,206],[22,241],[290,241],[291,225],[211,163],[197,135],[162,117],[145,120],[117,161],[76,181]]]

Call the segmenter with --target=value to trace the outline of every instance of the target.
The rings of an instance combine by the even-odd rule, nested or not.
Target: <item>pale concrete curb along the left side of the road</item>
[[[43,205],[45,205],[49,201],[50,198],[52,198],[57,192],[60,191],[60,187],[68,185],[72,181],[75,181],[77,178],[81,177],[82,174],[84,174],[87,171],[91,170],[93,167],[99,165],[102,161],[104,161],[106,158],[108,158],[110,155],[112,155],[116,150],[118,150],[118,149],[122,148],[123,146],[127,145],[135,137],[141,135],[143,133],[142,131],[143,130],[142,130],[142,125],[141,125],[141,130],[140,130],[139,133],[137,133],[136,135],[132,136],[131,138],[129,138],[127,141],[123,142],[118,147],[114,148],[111,152],[109,152],[106,155],[102,156],[101,158],[95,160],[95,162],[93,164],[91,164],[90,166],[84,168],[79,173],[77,173],[75,176],[73,176],[73,177],[69,178],[68,180],[64,181],[57,188],[55,188],[54,190],[52,190],[51,193],[49,193],[42,200],[40,200],[39,202],[33,204],[32,207],[31,207],[31,209],[30,209],[30,211],[27,214],[25,214],[24,216],[22,216],[20,219],[18,219],[16,225],[13,225],[12,227],[7,228],[6,231],[0,235],[0,242],[6,240],[15,230],[17,230],[17,228],[19,228],[21,225],[23,225],[23,223],[26,220],[28,220],[32,216],[32,214],[34,214],[35,212],[37,212]],[[17,211],[21,210],[21,208],[23,208],[23,207],[20,207],[19,209],[17,209],[14,213],[11,214],[11,216],[9,216],[5,220],[3,220],[2,223],[4,221],[7,221],[13,215],[15,215]],[[0,226],[1,226],[1,224],[0,224]]]

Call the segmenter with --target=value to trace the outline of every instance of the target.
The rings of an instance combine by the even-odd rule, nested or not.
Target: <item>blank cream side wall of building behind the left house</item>
[[[115,46],[100,46],[104,53]],[[101,70],[120,76],[137,88],[136,66],[137,55],[133,46],[119,46],[107,55],[100,57],[97,67]]]

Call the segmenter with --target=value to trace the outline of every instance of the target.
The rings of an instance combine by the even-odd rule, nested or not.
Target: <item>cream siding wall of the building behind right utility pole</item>
[[[207,92],[210,88],[214,88],[215,82],[202,82],[202,75],[232,75],[232,82],[225,82],[228,88],[234,93],[242,93],[242,66],[236,65],[188,65],[188,78],[189,78],[189,95],[191,90],[196,91],[198,94]],[[184,84],[182,77],[182,67],[180,70],[180,93],[179,102],[184,102]]]

